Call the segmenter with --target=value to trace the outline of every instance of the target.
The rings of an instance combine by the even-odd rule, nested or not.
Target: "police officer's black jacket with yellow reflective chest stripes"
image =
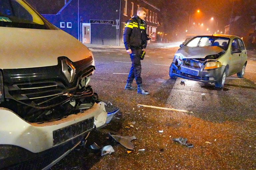
[[[145,47],[147,40],[150,40],[147,35],[145,21],[141,20],[137,15],[130,18],[125,24],[123,39],[126,50]]]

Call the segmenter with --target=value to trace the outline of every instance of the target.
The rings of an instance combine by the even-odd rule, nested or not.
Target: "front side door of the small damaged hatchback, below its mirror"
[[[231,62],[230,62],[230,73],[234,74],[236,73],[240,66],[241,63],[241,53],[233,53],[233,50],[235,48],[239,48],[238,40],[237,38],[233,39],[232,44],[231,44]]]

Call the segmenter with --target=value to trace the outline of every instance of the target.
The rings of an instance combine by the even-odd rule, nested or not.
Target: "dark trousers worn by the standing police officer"
[[[132,50],[132,53],[130,54],[130,57],[132,60],[132,67],[130,69],[128,78],[126,80],[127,83],[131,83],[133,79],[136,80],[137,84],[142,83],[142,78],[140,77],[140,74],[141,74],[140,55],[141,55],[141,49]]]

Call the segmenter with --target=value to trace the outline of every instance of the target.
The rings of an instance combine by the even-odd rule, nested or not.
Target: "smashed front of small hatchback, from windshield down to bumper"
[[[201,42],[203,38],[207,39],[204,43]],[[223,44],[226,46],[214,45],[217,41],[225,42]],[[196,37],[185,45],[181,45],[171,63],[170,77],[177,76],[194,81],[215,83],[217,86],[222,84],[226,63],[222,63],[219,58],[226,53],[229,41],[228,38]]]

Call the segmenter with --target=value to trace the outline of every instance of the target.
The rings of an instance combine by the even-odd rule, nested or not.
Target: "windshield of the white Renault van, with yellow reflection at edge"
[[[22,0],[0,0],[0,27],[50,29]]]

